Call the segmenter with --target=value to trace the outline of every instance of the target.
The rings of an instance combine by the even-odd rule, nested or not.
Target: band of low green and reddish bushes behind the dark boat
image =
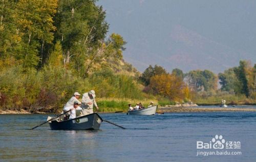
[[[7,66],[0,71],[0,106],[2,109],[24,108],[30,111],[56,112],[63,108],[75,91],[83,94],[91,89],[98,98],[121,98],[100,101],[99,106],[127,109],[128,99],[141,100],[144,95],[132,78],[116,75],[111,70],[80,78],[73,71],[59,65],[46,65],[40,71],[22,66]],[[136,101],[133,101],[136,102]],[[106,110],[106,109],[101,109]]]

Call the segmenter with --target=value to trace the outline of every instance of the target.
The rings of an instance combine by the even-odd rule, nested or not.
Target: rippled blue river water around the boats
[[[99,131],[50,130],[45,114],[0,115],[0,161],[255,161],[256,112],[100,114]],[[241,142],[242,155],[197,156],[216,134]],[[209,151],[201,149],[201,151]]]

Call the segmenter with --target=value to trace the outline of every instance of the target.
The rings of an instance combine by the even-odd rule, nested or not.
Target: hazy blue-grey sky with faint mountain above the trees
[[[220,73],[256,63],[256,1],[99,0],[109,34],[127,41],[123,57],[140,72],[161,65]]]

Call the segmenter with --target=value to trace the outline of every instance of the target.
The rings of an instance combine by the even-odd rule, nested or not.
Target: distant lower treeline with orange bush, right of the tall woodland
[[[246,98],[248,103],[250,100],[255,103],[256,99],[256,64],[252,66],[245,60],[240,61],[238,67],[218,75],[208,70],[193,70],[184,74],[178,68],[169,74],[161,66],[150,65],[140,81],[145,85],[144,92],[176,102],[193,100],[217,104],[227,98],[229,103],[236,104],[239,99]],[[218,82],[221,89],[218,89]]]

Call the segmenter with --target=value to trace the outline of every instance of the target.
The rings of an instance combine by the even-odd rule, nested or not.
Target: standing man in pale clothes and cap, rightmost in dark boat
[[[87,115],[93,113],[93,105],[98,110],[99,107],[95,100],[95,91],[90,90],[89,92],[86,92],[82,95],[82,114],[81,115]]]

